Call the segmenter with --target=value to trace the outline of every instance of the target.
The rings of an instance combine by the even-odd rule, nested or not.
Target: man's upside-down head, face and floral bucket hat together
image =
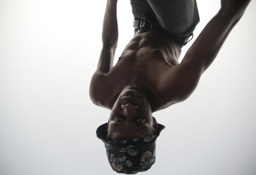
[[[108,123],[97,129],[97,137],[104,142],[114,171],[136,174],[155,163],[156,139],[163,129],[152,117],[147,95],[127,86],[116,99]]]

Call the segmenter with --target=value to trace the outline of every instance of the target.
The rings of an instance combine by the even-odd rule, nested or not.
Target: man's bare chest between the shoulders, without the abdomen
[[[168,70],[174,65],[166,61],[163,53],[157,50],[129,51],[124,54],[118,63],[108,73],[108,88],[116,96],[129,85],[136,85],[148,89],[156,101],[161,98],[158,86]],[[160,100],[159,100],[160,101]]]

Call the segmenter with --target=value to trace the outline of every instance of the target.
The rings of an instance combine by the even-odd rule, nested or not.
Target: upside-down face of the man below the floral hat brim
[[[150,103],[143,91],[136,86],[127,86],[113,105],[108,123],[108,138],[134,139],[152,135],[156,119],[151,112]]]

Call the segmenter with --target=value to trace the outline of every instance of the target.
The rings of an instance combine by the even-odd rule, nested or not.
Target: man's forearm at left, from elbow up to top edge
[[[116,18],[117,0],[108,0],[102,27],[103,46],[116,48],[118,42],[118,24]]]

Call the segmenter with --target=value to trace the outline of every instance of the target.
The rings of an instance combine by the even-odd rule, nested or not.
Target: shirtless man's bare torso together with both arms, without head
[[[200,76],[214,61],[250,0],[221,0],[210,20],[179,63],[180,47],[172,38],[152,29],[138,31],[112,67],[118,41],[117,1],[108,0],[102,30],[102,51],[90,84],[96,105],[112,109],[121,91],[130,85],[150,94],[152,112],[186,100]]]

